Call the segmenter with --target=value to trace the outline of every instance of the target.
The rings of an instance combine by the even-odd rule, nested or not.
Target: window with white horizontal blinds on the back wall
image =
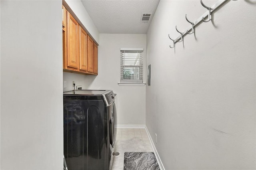
[[[143,83],[143,49],[120,50],[120,83]]]

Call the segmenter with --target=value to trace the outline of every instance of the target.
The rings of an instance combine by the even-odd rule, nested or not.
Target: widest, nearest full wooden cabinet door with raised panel
[[[79,66],[79,24],[68,12],[67,24],[67,67]]]

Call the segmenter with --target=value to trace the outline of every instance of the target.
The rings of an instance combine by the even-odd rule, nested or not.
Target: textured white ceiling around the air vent
[[[146,34],[159,0],[81,0],[100,33]],[[153,13],[142,23],[142,13]]]

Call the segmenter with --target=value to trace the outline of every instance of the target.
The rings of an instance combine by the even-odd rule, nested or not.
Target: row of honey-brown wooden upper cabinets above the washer
[[[67,9],[62,5],[63,71],[97,75],[98,46]]]

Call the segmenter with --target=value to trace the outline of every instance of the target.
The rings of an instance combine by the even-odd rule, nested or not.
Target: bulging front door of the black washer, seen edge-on
[[[116,117],[116,103],[113,101],[110,114],[110,145],[114,148],[116,144],[116,132],[117,132],[117,117]]]

